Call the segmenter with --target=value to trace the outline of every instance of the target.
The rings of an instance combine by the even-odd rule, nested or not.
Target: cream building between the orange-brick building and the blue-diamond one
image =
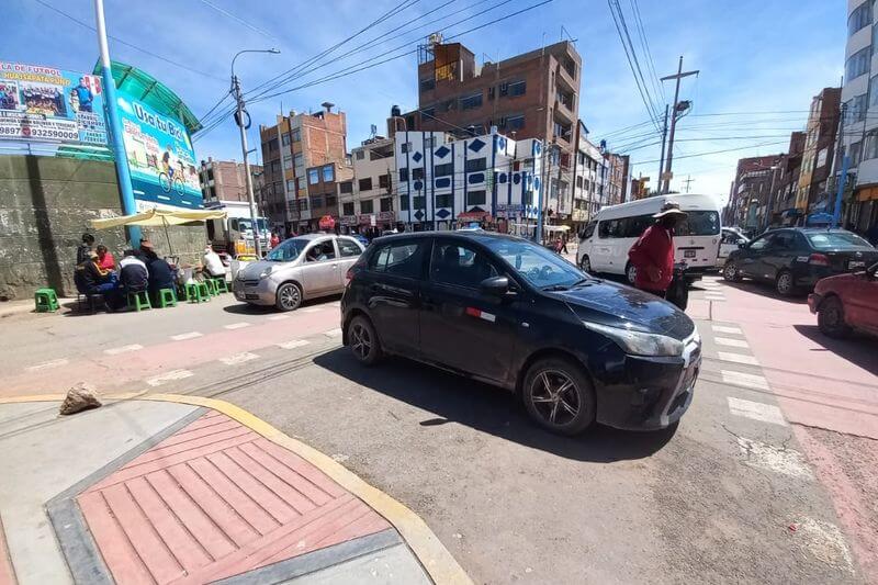
[[[358,230],[396,227],[399,203],[394,192],[393,138],[369,138],[351,150],[351,162],[354,179],[351,192],[341,199],[342,225]]]

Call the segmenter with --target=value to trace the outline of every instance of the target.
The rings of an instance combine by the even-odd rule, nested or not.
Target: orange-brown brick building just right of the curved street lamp
[[[273,126],[259,126],[266,213],[272,226],[288,234],[317,229],[319,216],[311,210],[306,169],[346,159],[346,116],[333,112],[333,105],[324,103],[324,110],[308,114],[291,111],[279,115]]]

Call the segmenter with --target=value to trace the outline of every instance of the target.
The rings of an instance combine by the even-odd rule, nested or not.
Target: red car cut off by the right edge
[[[878,263],[819,281],[808,306],[824,335],[844,337],[854,329],[878,335]]]

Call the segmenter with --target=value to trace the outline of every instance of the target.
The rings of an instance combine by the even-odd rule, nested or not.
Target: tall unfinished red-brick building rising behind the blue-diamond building
[[[570,223],[581,79],[582,58],[569,41],[479,65],[465,46],[432,35],[419,49],[418,110],[401,119],[408,131],[464,137],[497,128],[540,140],[547,221]]]

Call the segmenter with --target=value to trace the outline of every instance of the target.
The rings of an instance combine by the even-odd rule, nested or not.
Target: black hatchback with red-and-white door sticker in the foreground
[[[701,365],[674,305],[486,232],[378,238],[348,271],[344,344],[372,364],[412,358],[516,392],[543,427],[658,429],[689,407]]]

